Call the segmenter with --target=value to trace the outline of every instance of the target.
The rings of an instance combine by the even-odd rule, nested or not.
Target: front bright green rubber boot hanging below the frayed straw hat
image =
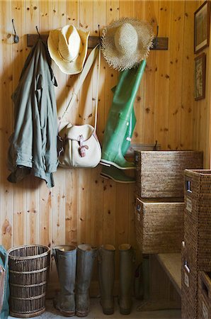
[[[135,169],[135,164],[127,162],[122,155],[122,144],[145,66],[146,60],[143,60],[139,67],[127,69],[120,74],[105,125],[101,164],[119,169]]]

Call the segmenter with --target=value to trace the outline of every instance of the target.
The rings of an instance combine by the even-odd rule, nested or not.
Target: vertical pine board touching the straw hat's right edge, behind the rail
[[[154,35],[156,35],[156,26],[158,25],[159,1],[147,1],[146,21],[154,27]],[[145,101],[144,101],[144,143],[154,143],[154,122],[155,122],[155,104],[156,104],[156,57],[159,52],[151,51],[147,58],[145,70]]]

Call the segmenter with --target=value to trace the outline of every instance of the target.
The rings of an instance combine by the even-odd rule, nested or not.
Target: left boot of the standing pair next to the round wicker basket
[[[54,247],[52,253],[55,257],[60,284],[60,291],[53,303],[62,315],[72,317],[75,314],[76,247],[61,245]]]

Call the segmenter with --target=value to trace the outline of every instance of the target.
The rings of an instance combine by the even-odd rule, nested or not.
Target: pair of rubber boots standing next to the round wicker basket
[[[96,247],[61,245],[53,248],[60,291],[54,306],[62,315],[86,317],[89,313],[89,286]]]

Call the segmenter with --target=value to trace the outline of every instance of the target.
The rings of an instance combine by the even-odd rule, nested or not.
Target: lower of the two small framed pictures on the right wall
[[[205,99],[206,55],[195,57],[195,101]]]

